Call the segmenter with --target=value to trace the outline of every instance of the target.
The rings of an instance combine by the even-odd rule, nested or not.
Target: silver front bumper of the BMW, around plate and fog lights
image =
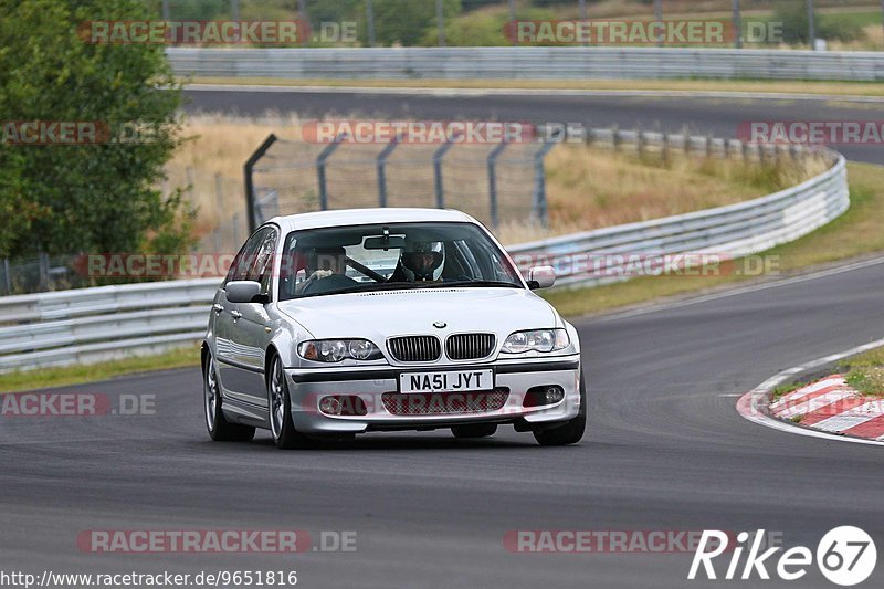
[[[494,371],[494,386],[507,389],[506,402],[493,410],[394,414],[382,402],[385,393],[398,391],[399,375],[413,371],[487,369]],[[304,433],[346,434],[386,430],[430,430],[465,423],[517,423],[541,425],[577,417],[580,407],[580,356],[559,356],[532,360],[495,361],[482,365],[445,365],[338,369],[286,369],[292,418]],[[561,401],[540,407],[524,407],[527,391],[535,387],[558,386]],[[433,393],[445,396],[450,393]],[[362,416],[329,416],[319,410],[327,396],[357,396],[367,410]]]

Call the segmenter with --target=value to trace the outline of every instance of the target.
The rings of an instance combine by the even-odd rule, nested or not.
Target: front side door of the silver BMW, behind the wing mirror
[[[254,235],[256,246],[244,280],[261,283],[261,294],[273,296],[273,260],[278,242],[275,227],[265,227]],[[241,400],[261,408],[267,407],[264,382],[264,350],[271,339],[270,317],[262,303],[228,303],[230,305],[230,345],[233,369],[238,372],[236,392]]]

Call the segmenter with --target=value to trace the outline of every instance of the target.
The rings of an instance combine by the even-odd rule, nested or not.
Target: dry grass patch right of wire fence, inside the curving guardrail
[[[825,167],[818,157],[762,166],[562,145],[547,158],[549,231],[509,224],[499,238],[512,244],[722,207],[794,186]]]

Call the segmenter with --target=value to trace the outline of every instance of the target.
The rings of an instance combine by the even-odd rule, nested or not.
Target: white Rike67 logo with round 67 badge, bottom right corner
[[[762,547],[765,530],[759,529],[750,535],[740,532],[736,546],[728,546],[728,535],[719,530],[704,530],[699,539],[691,570],[690,580],[704,577],[718,579],[720,567],[716,570],[713,560],[730,551],[727,571],[724,579],[770,579],[771,568],[782,580],[794,581],[808,572],[814,562],[814,554],[806,546],[796,546],[775,557],[782,547]],[[728,550],[730,549],[730,550]],[[764,550],[764,551],[762,551]],[[743,555],[746,559],[743,561]],[[815,564],[823,577],[835,585],[850,587],[867,579],[875,570],[877,550],[872,537],[863,529],[853,526],[840,526],[829,530],[817,545]],[[724,564],[724,562],[722,562]]]

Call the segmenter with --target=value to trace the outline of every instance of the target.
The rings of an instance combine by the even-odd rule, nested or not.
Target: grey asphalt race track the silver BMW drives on
[[[235,93],[196,97],[207,108],[236,101]],[[309,101],[316,102],[305,108],[322,108],[322,96]],[[494,101],[499,118],[539,112],[517,98]],[[383,112],[393,115],[404,104],[388,96],[365,108],[385,102]],[[749,106],[733,111],[720,101],[585,102],[545,101],[552,119],[583,113],[578,120],[623,126],[660,120],[680,128],[691,122],[724,135],[734,120],[751,117]],[[460,98],[448,107],[442,99],[408,104],[417,116],[480,112]],[[330,101],[327,106],[337,108]],[[798,106],[777,108],[800,118]],[[734,114],[722,122],[725,112]],[[852,157],[880,156],[865,148]],[[352,444],[281,452],[265,432],[248,444],[211,442],[198,369],[72,387],[65,390],[112,399],[155,395],[156,414],[0,418],[0,550],[7,562],[38,575],[297,570],[299,587],[602,589],[720,585],[685,580],[691,554],[511,554],[504,535],[765,528],[781,532],[787,547],[815,550],[830,528],[856,525],[882,550],[880,448],[770,430],[735,409],[738,395],[781,369],[881,338],[882,309],[884,260],[578,322],[590,421],[581,444],[562,449],[540,448],[530,434],[504,428],[480,441],[454,440],[446,431],[376,433]],[[322,530],[355,530],[357,550],[125,555],[84,553],[76,545],[83,530],[141,528],[294,528],[314,538]],[[716,562],[723,575],[727,560]],[[878,567],[862,587],[882,583]],[[834,587],[814,567],[791,583],[756,576],[729,585]]]

